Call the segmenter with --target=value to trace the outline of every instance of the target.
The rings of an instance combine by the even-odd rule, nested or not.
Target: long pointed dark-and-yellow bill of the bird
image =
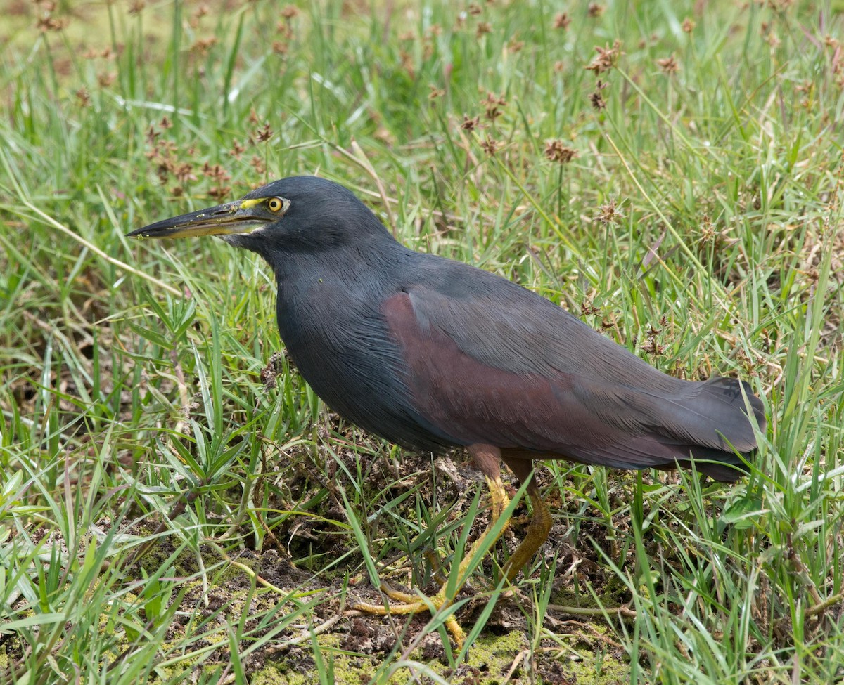
[[[165,218],[143,229],[127,233],[138,238],[182,238],[198,235],[232,235],[252,233],[267,224],[269,219],[256,211],[262,200],[238,200],[200,209],[198,212]]]

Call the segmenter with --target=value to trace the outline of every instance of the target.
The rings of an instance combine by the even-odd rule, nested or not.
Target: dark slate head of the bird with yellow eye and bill
[[[275,266],[284,255],[323,252],[371,239],[392,242],[376,216],[343,186],[317,176],[291,176],[235,202],[165,218],[129,236],[181,238],[216,235]]]

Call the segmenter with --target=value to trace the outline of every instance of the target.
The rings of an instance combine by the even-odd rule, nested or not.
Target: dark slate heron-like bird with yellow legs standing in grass
[[[352,191],[321,177],[273,181],[127,235],[215,235],[257,253],[275,275],[287,353],[327,407],[407,450],[468,451],[490,489],[492,522],[459,572],[473,550],[495,542],[487,538],[509,502],[502,461],[527,483],[533,508],[502,567],[512,582],[551,527],[534,461],[638,470],[694,463],[734,482],[766,429],[748,382],[666,375],[517,283],[402,245]],[[395,603],[358,608],[415,613],[453,601],[445,585],[426,601],[381,589]],[[463,641],[453,615],[446,627]]]

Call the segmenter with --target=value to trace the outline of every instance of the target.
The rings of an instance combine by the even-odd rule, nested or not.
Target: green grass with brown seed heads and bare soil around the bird
[[[143,5],[2,3],[0,682],[844,677],[840,3]],[[327,413],[255,257],[124,237],[295,173],[749,379],[749,477],[549,462],[549,544],[452,608],[471,648],[351,615],[448,573],[482,480]]]

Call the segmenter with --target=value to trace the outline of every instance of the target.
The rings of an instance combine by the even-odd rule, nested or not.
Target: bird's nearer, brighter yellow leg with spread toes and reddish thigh
[[[488,526],[486,531],[484,531],[484,533],[477,540],[475,540],[472,547],[469,547],[468,553],[465,553],[463,555],[463,560],[457,567],[457,585],[455,585],[454,587],[453,596],[446,596],[445,583],[441,586],[440,591],[437,592],[435,596],[427,598],[428,601],[422,601],[421,599],[419,599],[418,595],[411,595],[407,592],[394,590],[386,583],[381,583],[381,592],[383,592],[392,601],[398,602],[398,604],[386,605],[381,607],[377,604],[362,602],[360,604],[354,605],[354,609],[357,609],[361,612],[375,613],[383,616],[387,615],[388,613],[404,615],[425,612],[428,611],[430,607],[434,607],[434,609],[439,611],[443,607],[449,607],[454,601],[454,596],[456,596],[457,593],[463,588],[463,585],[466,585],[466,582],[468,580],[467,569],[469,564],[472,563],[472,559],[475,553],[477,553],[477,551],[481,547],[487,545],[494,545],[498,538],[501,537],[504,531],[506,531],[507,527],[510,526],[510,521],[506,521],[505,525],[501,526],[500,531],[498,531],[497,535],[495,535],[495,539],[492,541],[487,541],[487,537],[490,536],[490,532],[495,527],[496,521],[500,519],[501,512],[506,509],[507,504],[509,504],[510,502],[510,499],[507,497],[507,494],[504,491],[504,485],[501,483],[501,470],[499,461],[500,450],[498,450],[497,447],[493,447],[492,445],[469,445],[468,451],[469,454],[472,455],[474,463],[480,468],[482,472],[484,472],[484,478],[486,479],[487,487],[490,488],[492,512],[490,526]],[[517,552],[522,548],[523,545],[524,543],[522,542],[522,545],[519,545]],[[521,567],[517,567],[517,572],[519,568]],[[448,628],[449,633],[452,634],[452,638],[454,638],[454,641],[457,643],[457,645],[463,645],[463,642],[466,639],[466,634],[463,632],[463,628],[460,627],[460,624],[457,623],[457,618],[454,618],[453,614],[452,616],[446,618],[446,628]]]

